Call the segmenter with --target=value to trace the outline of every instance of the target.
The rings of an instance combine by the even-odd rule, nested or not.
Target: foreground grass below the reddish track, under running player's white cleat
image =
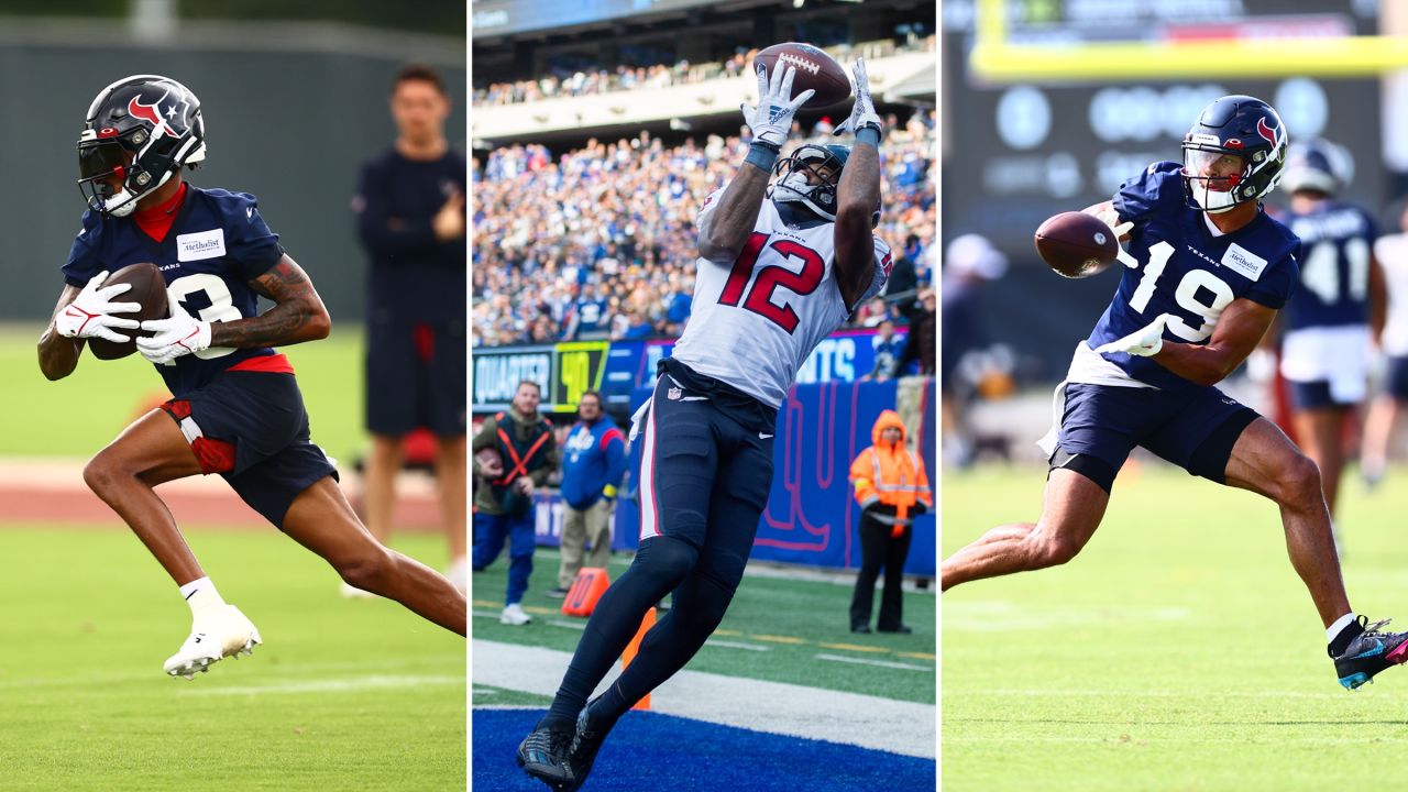
[[[0,788],[465,789],[458,636],[342,599],[273,528],[187,538],[265,638],[193,682],[162,674],[190,612],[125,528],[0,528]],[[438,537],[396,544],[445,561]]]

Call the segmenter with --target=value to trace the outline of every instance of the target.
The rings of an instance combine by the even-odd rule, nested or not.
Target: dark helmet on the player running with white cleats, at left
[[[182,166],[206,159],[200,100],[159,75],[134,75],[104,87],[79,135],[79,190],[89,209],[127,217],[144,194]],[[121,189],[108,180],[121,178]]]

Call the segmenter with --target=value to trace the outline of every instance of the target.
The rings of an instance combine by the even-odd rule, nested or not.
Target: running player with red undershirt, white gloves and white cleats
[[[293,366],[272,347],[325,338],[331,320],[253,196],[184,183],[182,168],[204,159],[200,101],[183,85],[138,75],[97,94],[79,137],[89,210],[39,338],[44,375],[68,376],[86,340],[124,342],[138,330],[124,314],[139,306],[114,302],[131,286],[104,286],[107,273],[137,262],[161,269],[172,316],[141,323],[152,335],[139,337],[137,348],[173,399],[99,451],[83,478],[190,606],[190,637],[166,661],[166,674],[190,679],[260,643],[249,619],[221,599],[152,489],[197,474],[222,475],[346,582],[463,636],[463,595],[372,538],[338,489],[332,462],[310,441]],[[263,314],[260,296],[273,302]]]

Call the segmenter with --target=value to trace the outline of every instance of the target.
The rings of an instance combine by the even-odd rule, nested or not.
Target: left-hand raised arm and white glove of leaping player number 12
[[[773,69],[772,78],[763,66],[758,66],[758,106],[739,106],[743,120],[753,131],[753,142],[748,147],[748,158],[738,166],[738,173],[724,189],[718,206],[700,217],[698,254],[708,261],[734,261],[743,252],[748,235],[758,224],[758,213],[763,207],[767,179],[773,175],[777,155],[787,142],[793,116],[815,90],[804,90],[791,97],[791,83],[797,69]]]

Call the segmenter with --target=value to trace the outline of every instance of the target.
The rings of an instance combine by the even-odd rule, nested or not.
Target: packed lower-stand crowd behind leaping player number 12
[[[855,324],[904,321],[903,307],[931,283],[934,124],[929,110],[888,118],[876,234],[895,252],[893,299],[862,306]],[[829,142],[829,128],[824,118],[807,140]],[[476,156],[474,347],[677,335],[694,293],[700,203],[734,175],[748,142],[746,128],[677,147],[641,132],[556,159],[541,145]],[[800,142],[794,130],[791,145]]]

